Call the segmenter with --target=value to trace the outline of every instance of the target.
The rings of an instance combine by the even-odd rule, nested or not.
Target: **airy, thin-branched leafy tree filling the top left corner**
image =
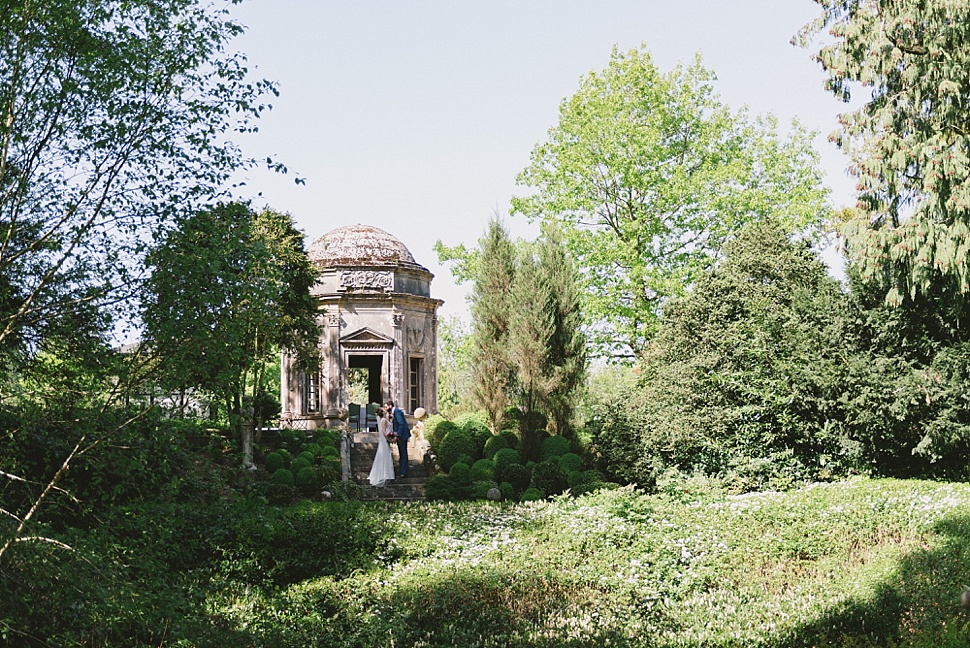
[[[137,301],[159,227],[249,165],[272,84],[198,0],[0,0],[0,352]]]

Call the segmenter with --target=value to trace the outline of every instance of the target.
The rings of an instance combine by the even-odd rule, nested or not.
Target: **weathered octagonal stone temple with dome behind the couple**
[[[351,404],[351,375],[361,405],[391,398],[409,413],[437,412],[436,313],[444,302],[431,297],[434,275],[401,241],[367,225],[335,229],[308,252],[321,272],[312,290],[323,331],[320,370],[303,372],[284,354],[283,425],[334,425]]]

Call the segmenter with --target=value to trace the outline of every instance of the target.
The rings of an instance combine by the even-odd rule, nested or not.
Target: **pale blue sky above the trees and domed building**
[[[853,202],[826,141],[846,107],[812,52],[789,43],[820,13],[811,0],[248,0],[233,11],[248,26],[235,45],[281,92],[242,144],[291,169],[250,173],[257,204],[293,214],[308,241],[353,223],[387,230],[435,274],[445,315],[467,312],[466,289],[434,242],[474,244],[507,212],[559,103],[614,44],[645,44],[665,70],[700,52],[730,106],[819,131],[833,203]]]

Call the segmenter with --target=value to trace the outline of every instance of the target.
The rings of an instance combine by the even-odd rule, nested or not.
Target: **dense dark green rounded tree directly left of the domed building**
[[[222,203],[182,220],[148,257],[146,342],[163,384],[217,396],[232,415],[285,348],[312,363],[316,270],[288,214]]]

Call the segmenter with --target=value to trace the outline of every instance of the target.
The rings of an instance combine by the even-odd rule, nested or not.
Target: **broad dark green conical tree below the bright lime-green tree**
[[[804,244],[773,223],[746,226],[665,309],[634,400],[594,420],[610,471],[648,485],[677,467],[759,486],[857,459],[839,445],[843,309]]]

